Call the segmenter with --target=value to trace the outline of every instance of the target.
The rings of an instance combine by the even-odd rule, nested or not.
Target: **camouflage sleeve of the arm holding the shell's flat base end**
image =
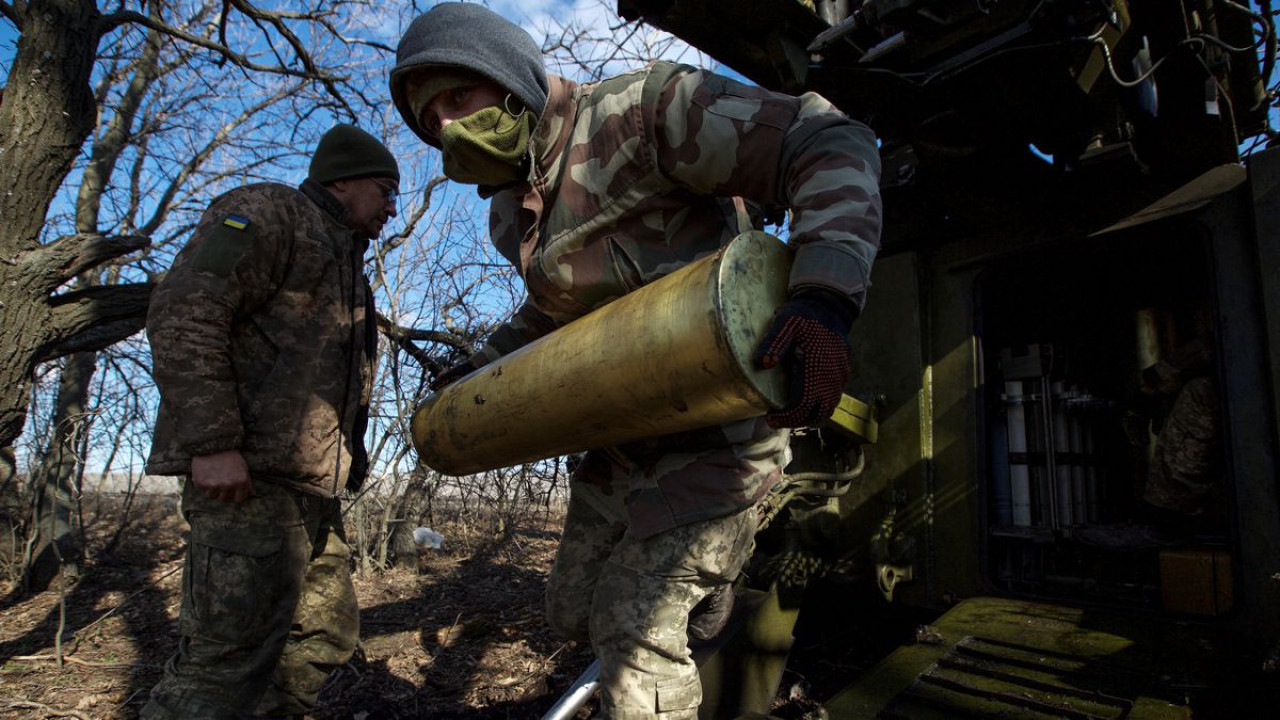
[[[792,291],[820,287],[861,306],[882,215],[870,128],[817,94],[769,92],[696,69],[667,82],[653,123],[669,178],[790,210]]]

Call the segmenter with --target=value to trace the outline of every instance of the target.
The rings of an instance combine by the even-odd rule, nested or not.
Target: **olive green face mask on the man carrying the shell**
[[[468,184],[506,184],[525,179],[525,151],[538,118],[485,108],[440,131],[444,174]]]

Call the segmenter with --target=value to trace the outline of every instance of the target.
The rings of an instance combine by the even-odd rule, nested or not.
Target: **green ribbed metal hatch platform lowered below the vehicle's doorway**
[[[840,719],[1185,720],[1162,675],[1213,656],[1160,623],[998,598],[961,602],[824,708]],[[1161,648],[1161,652],[1155,652]]]

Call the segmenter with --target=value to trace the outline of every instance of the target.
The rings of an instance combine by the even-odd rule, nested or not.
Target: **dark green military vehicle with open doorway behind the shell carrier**
[[[1270,3],[618,10],[882,138],[847,421],[796,439],[701,715],[1280,716]]]

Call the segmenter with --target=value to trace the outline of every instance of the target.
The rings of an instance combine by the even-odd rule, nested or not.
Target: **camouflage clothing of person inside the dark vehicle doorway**
[[[1184,515],[1204,511],[1222,474],[1217,414],[1212,379],[1194,378],[1183,386],[1156,438],[1143,500]]]

